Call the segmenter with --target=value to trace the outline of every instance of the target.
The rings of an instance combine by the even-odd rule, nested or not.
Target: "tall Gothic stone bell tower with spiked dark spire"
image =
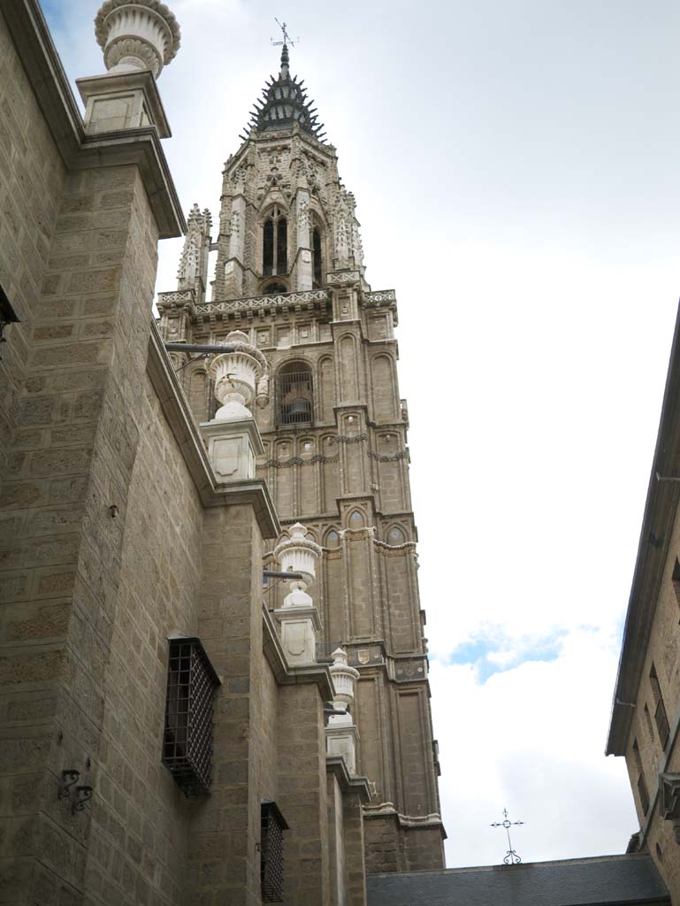
[[[266,82],[241,147],[225,164],[219,233],[194,207],[176,291],[159,296],[168,340],[215,343],[240,331],[263,353],[254,415],[284,525],[321,547],[310,586],[316,659],[338,651],[359,671],[352,708],[369,872],[443,865],[427,681],[425,614],[408,481],[407,407],[397,386],[397,301],[365,278],[353,195],[338,175],[303,82]],[[216,251],[206,301],[207,252]],[[210,361],[179,372],[198,422],[215,415]],[[271,540],[266,565],[276,566]],[[265,592],[284,610],[283,583]]]

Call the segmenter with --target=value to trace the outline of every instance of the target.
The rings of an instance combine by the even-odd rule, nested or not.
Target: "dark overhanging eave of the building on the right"
[[[659,588],[680,501],[680,313],[675,322],[666,390],[628,601],[607,755],[625,755],[645,666]]]

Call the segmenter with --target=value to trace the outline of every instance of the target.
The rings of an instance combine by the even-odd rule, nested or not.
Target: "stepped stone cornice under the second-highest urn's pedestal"
[[[203,505],[248,504],[254,508],[263,537],[280,535],[281,525],[265,482],[255,478],[225,484],[217,481],[187,397],[177,381],[158,327],[153,321],[148,338],[147,372]]]

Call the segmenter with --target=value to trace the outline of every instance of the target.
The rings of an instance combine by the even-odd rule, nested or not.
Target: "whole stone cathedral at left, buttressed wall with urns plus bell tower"
[[[360,906],[443,863],[394,293],[285,58],[213,237],[161,146],[175,17],[95,27],[83,118],[0,4],[2,901]]]

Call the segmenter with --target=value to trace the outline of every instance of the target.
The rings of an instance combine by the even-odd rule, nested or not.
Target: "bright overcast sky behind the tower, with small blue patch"
[[[420,583],[450,866],[625,850],[604,757],[680,292],[675,0],[172,0],[158,82],[183,207],[221,169],[278,51],[399,301]],[[101,72],[91,0],[46,13]],[[158,289],[181,243],[161,244]]]

